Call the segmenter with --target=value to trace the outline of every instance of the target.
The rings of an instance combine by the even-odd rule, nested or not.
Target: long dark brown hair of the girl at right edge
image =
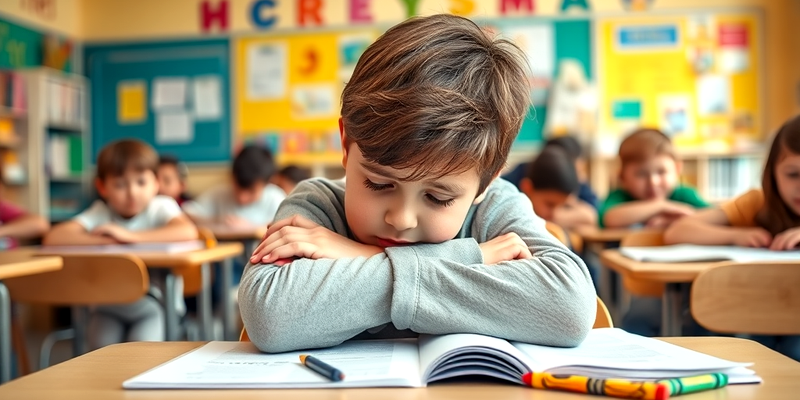
[[[800,215],[795,214],[783,201],[775,179],[775,167],[789,154],[800,154],[800,116],[786,121],[778,130],[761,178],[764,207],[756,214],[756,223],[773,235],[800,227]]]

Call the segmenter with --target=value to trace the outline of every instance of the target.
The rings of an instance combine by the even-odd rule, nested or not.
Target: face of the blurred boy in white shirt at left
[[[120,176],[96,179],[95,186],[108,206],[125,218],[142,212],[158,193],[156,174],[129,169]]]

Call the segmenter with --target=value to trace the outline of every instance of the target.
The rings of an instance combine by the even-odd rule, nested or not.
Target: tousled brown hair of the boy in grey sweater
[[[370,162],[410,168],[404,180],[477,167],[477,196],[505,164],[530,107],[525,60],[466,18],[406,20],[367,48],[344,88],[347,144]]]

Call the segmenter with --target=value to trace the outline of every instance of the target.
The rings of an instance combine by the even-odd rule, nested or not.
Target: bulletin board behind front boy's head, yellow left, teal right
[[[477,22],[501,36],[522,36],[530,42],[521,47],[530,53],[534,67],[534,106],[515,146],[536,146],[542,140],[547,89],[558,64],[573,59],[588,78],[592,76],[592,22],[545,17]],[[344,82],[363,50],[382,32],[377,28],[297,32],[235,40],[236,141],[266,142],[282,162],[339,162],[338,118]]]

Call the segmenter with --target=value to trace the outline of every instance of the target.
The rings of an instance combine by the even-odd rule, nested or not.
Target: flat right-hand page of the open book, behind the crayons
[[[654,379],[723,372],[750,364],[712,357],[617,328],[592,329],[578,347],[558,348],[514,343],[534,371],[590,377]]]

